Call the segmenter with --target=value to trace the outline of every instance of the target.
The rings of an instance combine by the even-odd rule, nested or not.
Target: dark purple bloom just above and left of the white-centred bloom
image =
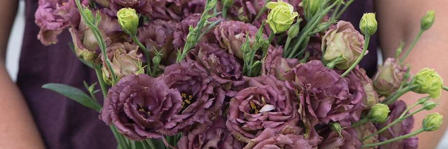
[[[235,56],[222,49],[218,44],[198,43],[192,53],[194,56],[191,59],[202,63],[213,80],[223,84],[226,90],[244,84],[241,73],[243,66]]]

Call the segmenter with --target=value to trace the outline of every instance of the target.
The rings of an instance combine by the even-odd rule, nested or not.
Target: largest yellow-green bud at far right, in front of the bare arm
[[[411,82],[411,90],[415,93],[428,93],[432,99],[440,97],[443,88],[443,80],[434,69],[423,68],[418,71]]]

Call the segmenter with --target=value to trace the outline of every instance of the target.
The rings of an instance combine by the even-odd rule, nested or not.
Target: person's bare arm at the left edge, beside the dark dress
[[[0,3],[0,149],[43,149],[28,106],[5,67],[6,46],[19,0]]]

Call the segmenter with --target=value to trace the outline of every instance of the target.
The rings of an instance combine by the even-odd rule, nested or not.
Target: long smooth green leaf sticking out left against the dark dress
[[[55,91],[59,94],[64,95],[65,97],[68,97],[69,99],[73,99],[82,105],[95,109],[96,111],[99,111],[101,107],[97,106],[93,100],[90,98],[89,95],[84,93],[78,88],[65,85],[65,84],[59,84],[59,83],[47,83],[45,85],[42,85],[42,88],[46,88],[52,91]]]

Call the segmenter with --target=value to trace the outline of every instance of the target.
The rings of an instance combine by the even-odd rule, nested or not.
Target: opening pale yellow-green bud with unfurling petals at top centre
[[[299,16],[297,12],[294,12],[294,7],[283,0],[268,2],[266,8],[271,9],[266,23],[269,24],[274,33],[283,33],[288,30],[291,24],[293,24],[294,18]]]

